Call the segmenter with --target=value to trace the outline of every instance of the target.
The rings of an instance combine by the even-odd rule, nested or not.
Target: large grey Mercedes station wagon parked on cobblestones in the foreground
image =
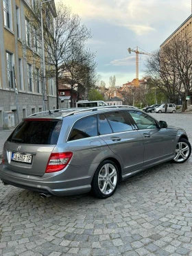
[[[0,178],[45,197],[108,198],[125,178],[190,154],[184,130],[136,108],[47,111],[23,119],[5,141]]]

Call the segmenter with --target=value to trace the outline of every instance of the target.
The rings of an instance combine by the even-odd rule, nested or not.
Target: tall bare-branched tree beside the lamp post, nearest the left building
[[[74,45],[84,47],[86,40],[91,38],[91,31],[85,25],[81,24],[80,16],[72,14],[71,9],[64,5],[62,0],[56,4],[55,19],[51,20],[49,12],[45,12],[44,17],[46,21],[44,22],[45,63],[47,69],[49,69],[47,71],[47,77],[56,78],[58,108],[58,83],[60,76],[66,72],[66,67],[63,63],[71,61],[71,58],[73,58]],[[40,5],[36,4],[34,15],[30,13],[28,19],[32,37],[35,38],[32,44],[38,41],[38,45],[41,47],[41,28],[40,22],[37,22],[40,21]],[[38,60],[42,62],[41,54],[38,55],[35,61],[37,62]]]

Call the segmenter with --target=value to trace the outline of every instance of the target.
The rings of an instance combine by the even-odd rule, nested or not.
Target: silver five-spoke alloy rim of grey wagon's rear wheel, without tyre
[[[105,195],[111,194],[117,186],[117,181],[118,176],[115,166],[111,163],[103,165],[98,175],[98,185],[101,193]]]

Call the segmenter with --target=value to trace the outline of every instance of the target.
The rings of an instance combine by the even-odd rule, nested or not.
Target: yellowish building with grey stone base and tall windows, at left
[[[42,49],[35,40],[35,31],[31,34],[28,21],[28,14],[34,12],[34,6],[40,1],[0,1],[0,128],[5,124],[8,111],[13,112],[14,123],[18,124],[23,117],[43,110],[43,65],[32,60],[32,56],[40,57]],[[44,18],[49,14],[46,22],[56,17],[54,0],[43,3],[43,9]],[[56,108],[56,83],[53,78],[46,83],[47,108],[53,109]]]

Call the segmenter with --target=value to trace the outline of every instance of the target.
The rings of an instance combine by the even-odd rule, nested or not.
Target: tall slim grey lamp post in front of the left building
[[[40,23],[41,23],[41,38],[42,38],[42,51],[43,51],[43,111],[46,111],[47,102],[47,86],[46,86],[46,71],[45,71],[45,46],[43,34],[43,3],[51,2],[52,0],[40,1]]]

